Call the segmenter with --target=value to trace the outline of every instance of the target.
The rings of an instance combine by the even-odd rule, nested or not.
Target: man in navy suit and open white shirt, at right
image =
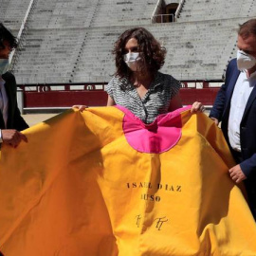
[[[217,94],[210,118],[220,121],[237,165],[230,178],[247,189],[248,205],[256,220],[256,19],[238,30],[237,58],[229,63],[226,81]]]

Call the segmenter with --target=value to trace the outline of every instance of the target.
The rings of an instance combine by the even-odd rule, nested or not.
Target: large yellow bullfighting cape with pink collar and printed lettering
[[[121,107],[70,110],[3,145],[5,256],[256,255],[220,129],[189,108],[145,125]]]

